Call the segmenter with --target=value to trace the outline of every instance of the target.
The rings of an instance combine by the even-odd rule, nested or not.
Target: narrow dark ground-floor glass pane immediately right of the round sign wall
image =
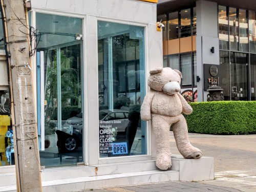
[[[229,52],[220,51],[220,66],[218,75],[220,78],[220,87],[223,89],[224,100],[230,100],[230,86],[229,86]]]

